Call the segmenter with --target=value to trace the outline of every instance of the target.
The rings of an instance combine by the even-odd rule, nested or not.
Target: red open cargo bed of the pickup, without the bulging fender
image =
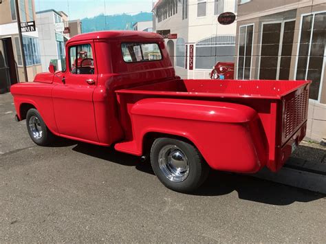
[[[266,144],[267,166],[273,171],[283,166],[293,144],[305,135],[309,100],[306,80],[182,80],[153,82],[116,91],[122,120],[130,121],[130,110],[144,98],[180,98],[243,104],[257,111]],[[130,135],[131,124],[123,125]],[[300,131],[304,129],[304,131]],[[276,136],[275,136],[276,135]],[[132,135],[129,137],[132,143]]]

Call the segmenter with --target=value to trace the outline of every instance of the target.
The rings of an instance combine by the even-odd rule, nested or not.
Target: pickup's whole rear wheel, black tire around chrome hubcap
[[[173,146],[173,148],[171,148],[171,146]],[[166,148],[171,149],[170,151],[168,149],[167,153],[165,153]],[[176,168],[172,166],[173,164],[169,164],[169,159],[172,159],[172,161],[173,159],[175,159],[175,157],[173,157],[177,155],[175,152],[177,152],[179,156],[182,156],[180,156],[181,160],[177,159],[180,161],[174,162],[182,162],[182,164],[184,164],[184,162],[187,162],[186,166],[182,167],[182,169],[184,170],[180,174],[181,176],[177,176],[177,179],[175,179],[173,175],[173,173],[175,173],[173,169]],[[171,153],[173,154],[173,156],[171,156]],[[159,157],[161,159],[161,164],[159,162]],[[167,161],[164,159],[166,159]],[[168,163],[165,164],[162,162]],[[199,186],[201,186],[207,179],[209,172],[208,164],[206,164],[204,158],[195,146],[181,140],[175,140],[167,137],[158,138],[153,142],[153,145],[151,147],[151,166],[155,175],[158,179],[160,179],[164,186],[171,190],[185,193],[193,192],[194,190],[199,188]],[[183,177],[185,178],[183,179]]]

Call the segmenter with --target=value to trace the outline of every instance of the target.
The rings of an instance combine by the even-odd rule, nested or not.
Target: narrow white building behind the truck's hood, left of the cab
[[[48,71],[50,63],[56,70],[65,67],[65,42],[68,34],[63,34],[63,28],[68,26],[67,14],[56,10],[36,12],[36,26],[39,30],[42,71]]]

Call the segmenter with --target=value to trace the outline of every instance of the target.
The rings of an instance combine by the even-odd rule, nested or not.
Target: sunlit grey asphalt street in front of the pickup
[[[72,140],[36,146],[0,95],[0,243],[326,242],[326,198],[211,172],[193,195],[149,163]]]

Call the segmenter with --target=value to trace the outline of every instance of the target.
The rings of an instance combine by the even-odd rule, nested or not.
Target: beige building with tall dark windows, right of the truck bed
[[[325,0],[238,0],[235,77],[312,80],[307,140],[326,137]]]

